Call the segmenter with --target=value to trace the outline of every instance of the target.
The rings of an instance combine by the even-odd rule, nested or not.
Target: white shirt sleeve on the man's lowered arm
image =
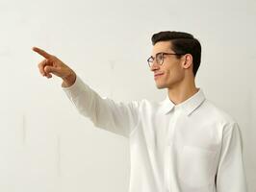
[[[237,123],[223,131],[222,148],[217,175],[218,192],[246,192],[243,165],[243,141]]]

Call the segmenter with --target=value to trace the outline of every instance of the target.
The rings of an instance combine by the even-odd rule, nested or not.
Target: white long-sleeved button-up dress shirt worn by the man
[[[129,192],[246,192],[238,124],[201,89],[174,105],[117,103],[77,77],[64,92],[94,126],[129,139]]]

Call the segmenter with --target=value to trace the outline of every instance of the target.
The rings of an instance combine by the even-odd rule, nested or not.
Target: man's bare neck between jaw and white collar
[[[168,98],[173,104],[178,105],[192,97],[198,90],[199,88],[196,88],[194,81],[190,81],[190,84],[181,82],[168,88]]]

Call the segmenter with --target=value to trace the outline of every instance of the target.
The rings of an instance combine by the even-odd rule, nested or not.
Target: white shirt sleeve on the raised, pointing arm
[[[89,117],[95,127],[129,137],[139,121],[139,102],[117,103],[103,98],[77,76],[65,94],[79,113]]]

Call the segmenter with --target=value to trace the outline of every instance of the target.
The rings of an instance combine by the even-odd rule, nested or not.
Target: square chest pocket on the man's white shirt
[[[182,185],[203,187],[213,183],[216,175],[217,152],[184,146],[179,154],[178,176]]]

